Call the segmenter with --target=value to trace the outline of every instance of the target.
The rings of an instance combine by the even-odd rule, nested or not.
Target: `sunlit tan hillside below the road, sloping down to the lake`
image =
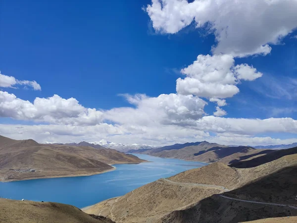
[[[84,211],[108,217],[117,223],[155,223],[174,210],[222,192],[223,190],[217,188],[181,186],[159,179],[122,197],[100,202]]]

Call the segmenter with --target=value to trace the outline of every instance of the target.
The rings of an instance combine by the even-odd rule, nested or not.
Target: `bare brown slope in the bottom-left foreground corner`
[[[0,199],[0,210],[2,223],[114,223],[103,216],[88,215],[74,206],[52,202]]]

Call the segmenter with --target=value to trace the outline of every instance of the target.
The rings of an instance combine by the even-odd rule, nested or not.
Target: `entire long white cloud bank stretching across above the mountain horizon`
[[[193,95],[169,94],[150,98],[138,94],[124,97],[135,108],[98,111],[83,107],[74,98],[63,99],[58,95],[36,98],[31,103],[0,91],[1,117],[51,123],[2,125],[0,134],[42,142],[104,138],[113,142],[149,145],[213,140],[210,133],[228,138],[251,138],[269,132],[297,134],[297,120],[293,118],[247,119],[207,115],[203,110],[207,103]],[[219,107],[216,109],[214,115],[226,114]]]

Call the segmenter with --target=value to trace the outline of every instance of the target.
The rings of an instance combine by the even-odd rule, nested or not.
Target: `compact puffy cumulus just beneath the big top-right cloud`
[[[193,64],[181,70],[186,78],[177,79],[176,91],[203,98],[230,98],[239,92],[240,80],[252,81],[262,76],[247,64],[234,66],[231,55],[199,55]]]

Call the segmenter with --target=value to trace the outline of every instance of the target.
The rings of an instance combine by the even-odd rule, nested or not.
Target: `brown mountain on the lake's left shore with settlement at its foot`
[[[145,161],[113,149],[39,144],[32,139],[0,136],[0,181],[92,175],[113,170],[109,164],[141,162]]]

